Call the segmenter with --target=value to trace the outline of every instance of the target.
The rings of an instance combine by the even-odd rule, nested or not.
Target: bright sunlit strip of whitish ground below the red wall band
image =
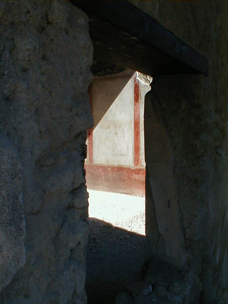
[[[145,235],[145,198],[88,190],[89,217]]]

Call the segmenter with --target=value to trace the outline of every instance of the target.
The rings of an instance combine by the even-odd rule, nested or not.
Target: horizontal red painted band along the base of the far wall
[[[145,169],[85,164],[88,189],[145,196]]]

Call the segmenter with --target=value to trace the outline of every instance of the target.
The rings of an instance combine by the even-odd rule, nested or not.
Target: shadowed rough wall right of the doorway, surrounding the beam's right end
[[[186,263],[178,270],[173,261],[164,258],[164,250],[152,253],[151,242],[156,235],[152,231],[153,211],[147,209],[147,257],[152,257],[147,279],[158,295],[169,294],[169,302],[214,303],[228,286],[228,4],[130,2],[209,59],[208,77],[167,76],[154,81],[153,89],[173,150],[173,176]],[[159,222],[161,218],[155,220]],[[165,264],[157,267],[154,263],[157,258]]]

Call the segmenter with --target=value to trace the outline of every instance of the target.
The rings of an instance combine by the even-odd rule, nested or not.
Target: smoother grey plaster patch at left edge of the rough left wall
[[[0,135],[0,291],[25,264],[22,170],[15,147]]]

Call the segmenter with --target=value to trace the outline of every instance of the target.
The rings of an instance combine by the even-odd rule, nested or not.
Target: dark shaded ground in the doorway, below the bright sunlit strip
[[[113,304],[116,294],[139,276],[145,237],[89,219],[86,292],[88,304]]]

